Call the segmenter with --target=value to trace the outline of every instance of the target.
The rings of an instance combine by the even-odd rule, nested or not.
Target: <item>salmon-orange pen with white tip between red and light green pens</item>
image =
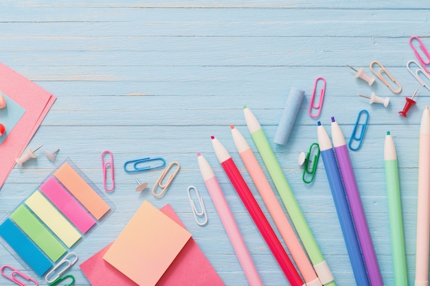
[[[269,181],[258,164],[251,147],[249,147],[245,137],[242,136],[239,130],[234,128],[234,126],[231,126],[231,136],[233,136],[234,144],[236,145],[240,158],[242,158],[251,179],[254,184],[256,184],[258,193],[260,193],[264,204],[266,204],[273,221],[278,227],[280,235],[286,243],[286,247],[290,251],[295,264],[299,268],[299,272],[302,274],[304,282],[308,286],[320,286],[321,282],[319,281],[317,274],[315,274],[315,270],[313,269],[312,264],[310,264],[299,239],[297,239],[297,235],[295,235],[293,227],[290,222],[288,222],[288,219],[284,214],[284,210],[278,202]]]

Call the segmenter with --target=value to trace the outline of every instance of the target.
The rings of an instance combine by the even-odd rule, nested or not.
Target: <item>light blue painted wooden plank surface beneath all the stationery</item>
[[[383,142],[396,143],[402,194],[407,272],[414,283],[418,136],[429,91],[420,87],[408,117],[398,111],[419,86],[406,69],[415,60],[409,37],[430,48],[427,1],[133,1],[29,0],[0,2],[0,61],[58,97],[30,142],[43,144],[38,158],[15,167],[0,190],[0,215],[20,204],[56,163],[45,150],[60,148],[57,162],[73,160],[102,189],[100,154],[111,150],[116,188],[106,193],[112,213],[74,251],[78,263],[113,241],[144,200],[171,204],[226,285],[247,285],[220,219],[205,189],[196,153],[210,162],[238,221],[264,285],[288,285],[213,153],[210,136],[227,147],[263,211],[260,195],[231,140],[230,124],[245,135],[247,105],[273,141],[292,86],[306,97],[286,146],[275,155],[302,207],[337,285],[354,285],[322,160],[312,184],[302,182],[299,152],[317,141],[317,121],[330,134],[335,116],[348,140],[358,112],[367,109],[363,146],[350,152],[385,285],[394,285],[385,190]],[[402,84],[395,95],[376,80],[356,80],[352,67],[379,60]],[[315,79],[326,78],[318,119],[308,116]],[[390,97],[388,108],[369,105],[358,94]],[[257,154],[257,153],[256,153]],[[161,169],[126,174],[126,160],[162,156],[181,171],[161,199],[147,189],[136,193],[135,177],[150,188]],[[258,160],[261,161],[257,154]],[[0,159],[1,162],[1,159]],[[267,171],[264,169],[264,171]],[[194,185],[205,200],[209,223],[194,222],[186,189]],[[273,225],[273,221],[269,217]],[[3,246],[0,263],[24,267]],[[32,272],[26,274],[34,276]],[[76,285],[89,285],[78,265]],[[44,285],[43,278],[38,279]],[[0,278],[1,285],[12,285]]]

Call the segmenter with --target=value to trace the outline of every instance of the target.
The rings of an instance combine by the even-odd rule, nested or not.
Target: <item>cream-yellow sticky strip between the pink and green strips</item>
[[[80,239],[80,233],[69,221],[41,194],[35,191],[25,204],[67,247]]]

